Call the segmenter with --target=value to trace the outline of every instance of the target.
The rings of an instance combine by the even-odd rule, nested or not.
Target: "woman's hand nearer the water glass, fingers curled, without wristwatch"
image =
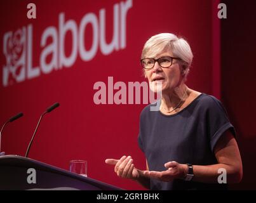
[[[121,178],[137,180],[140,176],[138,169],[134,167],[133,159],[131,159],[130,156],[123,156],[121,159],[106,159],[105,163],[115,165],[114,171]]]

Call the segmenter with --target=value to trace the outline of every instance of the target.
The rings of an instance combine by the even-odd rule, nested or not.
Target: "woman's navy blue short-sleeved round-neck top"
[[[217,98],[202,93],[177,114],[165,115],[151,111],[156,103],[147,105],[140,114],[138,145],[144,152],[150,171],[165,171],[164,164],[217,164],[213,148],[227,131],[235,136],[226,110]],[[159,108],[158,108],[159,109]],[[217,180],[216,180],[217,181]],[[151,179],[151,190],[223,189],[226,184],[198,183]]]

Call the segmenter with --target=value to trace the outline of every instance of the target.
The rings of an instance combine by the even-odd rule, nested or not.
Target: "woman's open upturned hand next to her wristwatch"
[[[187,165],[179,164],[176,161],[167,162],[165,164],[166,171],[144,171],[144,175],[149,178],[156,178],[160,181],[172,181],[177,178],[184,178],[187,173]]]

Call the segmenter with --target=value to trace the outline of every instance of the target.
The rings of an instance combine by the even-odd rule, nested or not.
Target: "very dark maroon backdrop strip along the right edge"
[[[243,180],[234,188],[256,190],[255,1],[224,1],[228,16],[221,22],[222,101],[236,126],[243,160]]]

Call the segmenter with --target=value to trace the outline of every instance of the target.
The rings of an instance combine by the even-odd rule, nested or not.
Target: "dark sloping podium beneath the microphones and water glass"
[[[30,170],[36,183],[29,183]],[[74,174],[18,155],[0,156],[0,190],[121,190],[121,188]]]

